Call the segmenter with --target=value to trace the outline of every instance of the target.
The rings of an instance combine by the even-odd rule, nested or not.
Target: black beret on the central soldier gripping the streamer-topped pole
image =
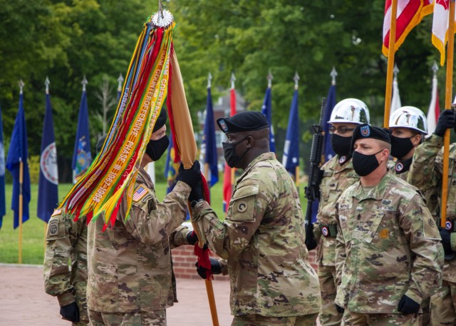
[[[266,117],[258,111],[243,111],[236,113],[231,118],[219,118],[217,124],[224,133],[240,133],[269,128]]]

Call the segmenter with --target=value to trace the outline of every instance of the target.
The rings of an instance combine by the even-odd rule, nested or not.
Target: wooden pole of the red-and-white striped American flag
[[[390,106],[391,92],[393,91],[393,69],[394,69],[394,48],[396,43],[396,14],[398,11],[398,0],[391,1],[391,24],[390,39],[388,44],[388,70],[386,71],[386,89],[385,89],[385,116],[383,117],[383,126],[388,128],[390,125]]]

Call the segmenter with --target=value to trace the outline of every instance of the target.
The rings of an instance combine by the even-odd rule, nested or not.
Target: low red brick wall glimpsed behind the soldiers
[[[200,277],[197,274],[197,268],[195,263],[197,258],[193,253],[192,245],[181,245],[179,248],[171,250],[172,252],[172,267],[176,277],[179,278],[190,278],[199,280]],[[312,267],[316,270],[315,263],[316,250],[309,252],[309,261]],[[214,255],[213,258],[218,258]],[[214,280],[229,280],[228,275],[214,275]]]

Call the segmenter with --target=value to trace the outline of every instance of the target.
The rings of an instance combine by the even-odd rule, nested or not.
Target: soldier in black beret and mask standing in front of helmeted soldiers
[[[414,325],[420,303],[441,284],[437,225],[418,189],[387,173],[388,133],[360,125],[352,145],[361,178],[336,204],[343,325]]]

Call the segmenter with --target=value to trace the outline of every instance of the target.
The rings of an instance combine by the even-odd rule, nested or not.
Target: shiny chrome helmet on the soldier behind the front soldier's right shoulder
[[[415,106],[398,108],[390,116],[390,128],[410,128],[427,134],[427,119],[425,113]]]

